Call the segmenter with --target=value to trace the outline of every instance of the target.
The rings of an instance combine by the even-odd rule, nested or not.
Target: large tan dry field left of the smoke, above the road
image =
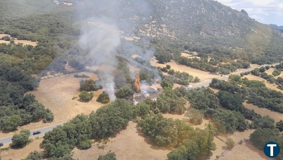
[[[74,74],[85,74],[90,76],[93,80],[97,79],[95,74],[89,72]],[[78,97],[80,94],[79,82],[81,79],[87,79],[75,78],[74,74],[66,74],[59,77],[41,80],[39,83],[39,88],[29,92],[34,94],[40,103],[54,113],[53,122],[32,122],[28,125],[18,127],[18,131],[15,132],[19,132],[20,129],[30,129],[33,131],[36,129],[61,124],[71,120],[78,114],[89,114],[91,111],[96,111],[101,106],[104,106],[105,104],[96,102],[98,95],[102,93],[103,90],[95,91],[94,97],[90,102],[80,102],[78,99],[72,100],[73,97]],[[0,138],[12,136],[15,132],[1,132]]]

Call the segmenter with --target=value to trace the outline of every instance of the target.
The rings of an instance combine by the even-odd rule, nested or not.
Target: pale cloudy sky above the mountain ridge
[[[217,0],[236,10],[244,9],[249,16],[264,24],[283,26],[283,0]]]

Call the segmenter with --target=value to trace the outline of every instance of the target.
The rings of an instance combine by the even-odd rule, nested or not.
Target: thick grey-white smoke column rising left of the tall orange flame
[[[95,19],[95,22],[99,25],[89,24],[83,28],[80,39],[81,47],[89,50],[92,65],[115,66],[117,64],[115,50],[120,45],[120,33],[115,25],[107,23],[111,22],[109,18]],[[116,99],[113,73],[107,67],[103,69],[104,72],[98,74],[98,77],[105,92],[113,101]]]

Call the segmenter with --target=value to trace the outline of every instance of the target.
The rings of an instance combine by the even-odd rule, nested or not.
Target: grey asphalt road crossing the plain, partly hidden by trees
[[[272,65],[277,65],[277,64],[279,64],[279,63],[272,64]],[[261,65],[261,66],[259,66],[259,67],[262,67],[262,66],[266,66],[266,65]],[[258,68],[259,68],[259,67],[258,67]],[[243,73],[243,72],[249,72],[249,71],[254,70],[254,69],[255,69],[255,68],[250,68],[250,69],[244,70],[244,71],[242,71],[242,72],[237,72],[237,73],[235,73],[235,74],[236,74],[236,75],[240,75],[240,74]],[[228,78],[229,78],[228,76],[225,76],[225,77],[221,78],[220,80],[226,80],[226,79],[228,79]],[[203,83],[203,84],[199,84],[199,85],[193,86],[193,88],[198,88],[198,87],[202,87],[202,86],[207,87],[207,86],[209,86],[209,83],[210,83],[210,82],[211,82],[211,81],[209,81],[209,82],[207,82],[207,83]],[[155,99],[157,99],[157,97],[152,98],[152,100],[155,100]],[[136,102],[136,103],[137,103],[137,102]],[[63,125],[63,124],[59,124],[59,125]],[[41,131],[41,134],[44,134],[44,133],[46,133],[46,132],[48,132],[48,131],[51,131],[53,128],[55,128],[55,127],[57,127],[57,126],[58,126],[58,125],[54,125],[54,126],[51,126],[51,127],[46,127],[46,128],[38,129],[38,130],[36,130],[36,131]],[[30,132],[30,137],[41,135],[41,134],[32,135],[33,132],[34,132],[34,131]],[[12,143],[12,136],[6,137],[6,138],[1,138],[1,139],[0,139],[0,143],[3,143],[4,145]]]

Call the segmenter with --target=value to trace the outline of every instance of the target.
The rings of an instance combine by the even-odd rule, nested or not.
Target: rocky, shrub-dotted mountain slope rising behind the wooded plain
[[[217,1],[66,0],[73,3],[72,6],[66,6],[63,3],[56,5],[53,1],[51,2],[46,3],[44,12],[48,13],[42,13],[42,17],[48,18],[55,14],[66,21],[74,19],[78,23],[89,21],[93,17],[94,19],[110,17],[112,20],[110,23],[124,30],[124,35],[147,37],[143,39],[151,40],[153,46],[170,48],[171,52],[172,48],[188,49],[202,54],[213,54],[211,56],[244,59],[258,64],[283,60],[281,45],[283,34],[279,30],[256,22],[246,12],[233,10]],[[16,7],[13,6],[13,10],[20,11]],[[36,10],[42,9],[41,5],[38,5],[38,8],[36,5],[32,7]],[[6,8],[9,8],[8,3]],[[53,15],[50,15],[49,10],[53,8],[56,9],[52,10]],[[5,13],[8,12],[5,10]],[[14,14],[5,15],[12,18]],[[22,21],[26,19],[30,21],[32,17],[33,15],[23,17]],[[0,29],[13,28],[15,32],[21,30],[30,32],[31,29],[27,27],[17,28],[13,25],[15,22],[11,18],[6,20],[5,27],[0,24]],[[37,29],[41,28],[37,27]]]

